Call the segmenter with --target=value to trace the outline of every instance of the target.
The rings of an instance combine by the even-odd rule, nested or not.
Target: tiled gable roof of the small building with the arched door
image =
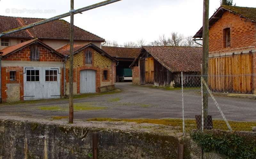
[[[74,54],[78,53],[79,51],[81,51],[87,47],[91,47],[92,49],[95,49],[97,52],[108,57],[112,61],[118,62],[114,57],[110,56],[108,53],[106,53],[104,50],[100,49],[98,46],[96,46],[92,42],[84,43],[84,44],[74,44],[74,49],[73,49]],[[62,48],[57,49],[57,51],[60,52],[64,56],[69,56],[69,54],[70,54],[69,49],[70,49],[70,45],[67,44],[67,45],[63,46]]]

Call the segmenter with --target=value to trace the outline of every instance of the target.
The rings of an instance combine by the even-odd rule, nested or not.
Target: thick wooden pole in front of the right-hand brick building
[[[209,54],[209,0],[204,0],[203,11],[203,68],[202,75],[206,83],[208,83],[208,55]],[[208,93],[205,85],[203,85],[203,104],[204,104],[204,127],[207,126],[208,118]],[[203,125],[202,125],[203,126]]]

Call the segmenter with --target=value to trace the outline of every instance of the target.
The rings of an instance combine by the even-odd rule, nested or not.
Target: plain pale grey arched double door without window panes
[[[80,71],[80,93],[96,92],[96,72],[94,70]]]

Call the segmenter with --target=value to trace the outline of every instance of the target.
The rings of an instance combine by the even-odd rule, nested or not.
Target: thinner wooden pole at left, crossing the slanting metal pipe
[[[69,124],[74,122],[73,63],[74,63],[74,0],[70,0],[70,56],[69,56]]]

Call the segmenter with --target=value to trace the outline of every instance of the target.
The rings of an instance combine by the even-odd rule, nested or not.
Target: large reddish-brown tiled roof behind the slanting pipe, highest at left
[[[37,21],[44,20],[40,18],[23,18],[23,17],[8,17],[0,16],[0,32],[8,31],[20,26],[25,26]],[[39,39],[65,39],[69,40],[69,27],[70,23],[65,20],[55,20],[45,23],[33,28],[22,30],[5,37],[20,37],[20,38],[39,38]],[[92,34],[77,26],[74,27],[74,39],[84,41],[100,41],[104,42],[105,39]]]

